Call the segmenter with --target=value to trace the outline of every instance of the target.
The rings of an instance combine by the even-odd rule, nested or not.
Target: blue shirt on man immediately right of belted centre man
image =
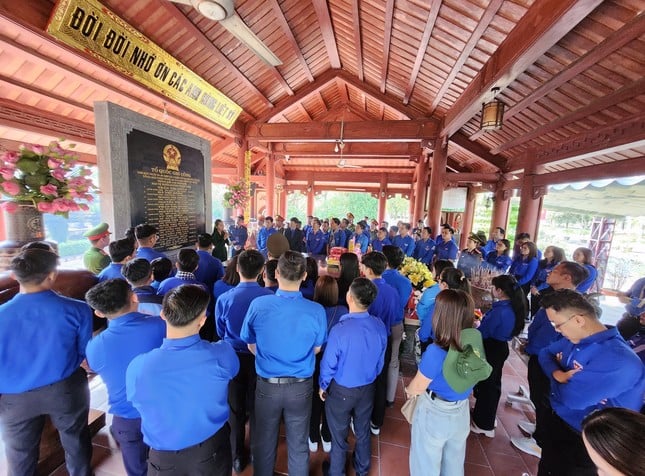
[[[329,333],[320,362],[320,388],[332,379],[347,388],[372,383],[383,369],[387,332],[385,325],[368,312],[349,313]]]

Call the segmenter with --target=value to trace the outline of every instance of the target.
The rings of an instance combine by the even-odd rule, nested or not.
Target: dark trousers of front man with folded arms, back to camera
[[[230,428],[228,423],[213,436],[177,451],[150,450],[148,476],[231,476]]]

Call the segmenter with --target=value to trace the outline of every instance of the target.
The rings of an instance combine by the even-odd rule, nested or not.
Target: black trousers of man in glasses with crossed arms
[[[543,418],[545,437],[538,476],[595,476],[596,466],[582,442],[582,435],[553,410]]]

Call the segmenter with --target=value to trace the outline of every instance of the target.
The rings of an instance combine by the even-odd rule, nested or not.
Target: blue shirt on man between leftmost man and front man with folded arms
[[[165,336],[160,317],[131,312],[108,320],[108,328],[87,344],[87,363],[105,382],[110,413],[140,417],[125,396],[125,371],[137,355],[160,347]]]

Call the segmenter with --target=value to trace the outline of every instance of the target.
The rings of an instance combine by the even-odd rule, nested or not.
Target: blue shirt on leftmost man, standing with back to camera
[[[85,358],[92,310],[54,291],[19,293],[0,306],[0,394],[66,379]]]

